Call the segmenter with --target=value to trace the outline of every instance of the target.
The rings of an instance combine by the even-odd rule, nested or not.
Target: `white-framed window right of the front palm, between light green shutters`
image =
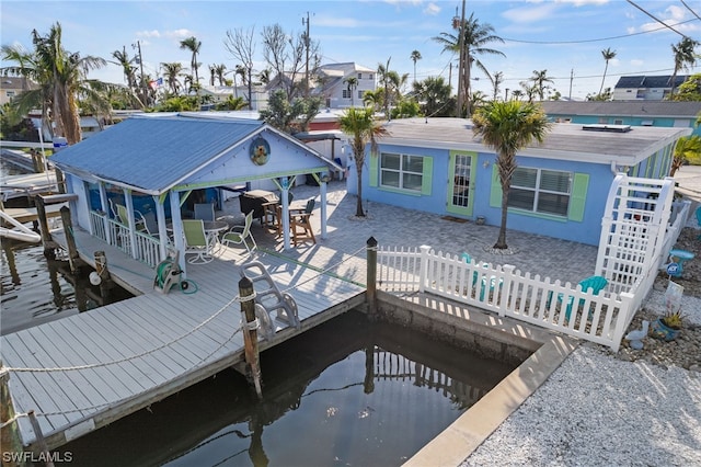
[[[512,179],[508,205],[533,213],[566,216],[571,192],[571,172],[519,167]]]

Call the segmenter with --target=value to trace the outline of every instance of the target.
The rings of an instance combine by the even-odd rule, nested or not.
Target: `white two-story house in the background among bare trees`
[[[327,109],[346,109],[363,106],[363,95],[366,91],[375,91],[376,71],[355,62],[322,65],[317,71],[319,86],[312,91],[313,95],[323,98]],[[348,90],[348,78],[358,80],[357,87]]]

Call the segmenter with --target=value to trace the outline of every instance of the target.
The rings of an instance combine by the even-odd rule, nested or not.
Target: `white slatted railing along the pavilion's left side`
[[[160,262],[160,241],[147,232],[134,232],[134,241],[129,226],[111,219],[102,212],[90,212],[90,228],[92,235],[101,240],[117,247],[135,260],[141,261],[151,267]]]

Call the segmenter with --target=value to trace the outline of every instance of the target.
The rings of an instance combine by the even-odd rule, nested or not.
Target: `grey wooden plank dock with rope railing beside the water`
[[[192,286],[162,294],[152,288],[152,269],[87,232],[76,232],[76,240],[89,263],[94,251],[105,251],[116,282],[140,295],[0,338],[20,433],[31,449],[36,434],[22,417],[31,410],[55,448],[243,361],[235,299],[241,250],[188,264]],[[343,267],[323,273],[265,250],[257,260],[292,296],[301,320],[300,330],[285,327],[261,341],[261,350],[365,301],[365,287],[343,278]],[[348,260],[349,270],[364,267],[360,259]]]

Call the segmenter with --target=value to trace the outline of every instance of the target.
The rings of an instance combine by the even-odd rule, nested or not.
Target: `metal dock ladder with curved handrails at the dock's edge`
[[[277,321],[283,321],[287,326],[294,326],[297,329],[301,327],[295,299],[291,295],[280,292],[263,263],[260,261],[251,261],[242,264],[241,275],[248,277],[253,283],[256,317],[263,321],[262,326],[266,338],[271,335],[271,332],[275,333],[276,330],[281,329],[277,327],[273,329],[273,320],[271,318],[271,312],[273,311],[277,312]],[[256,287],[257,284],[264,285]],[[264,311],[264,316],[258,316],[262,315],[260,312],[261,308]]]

